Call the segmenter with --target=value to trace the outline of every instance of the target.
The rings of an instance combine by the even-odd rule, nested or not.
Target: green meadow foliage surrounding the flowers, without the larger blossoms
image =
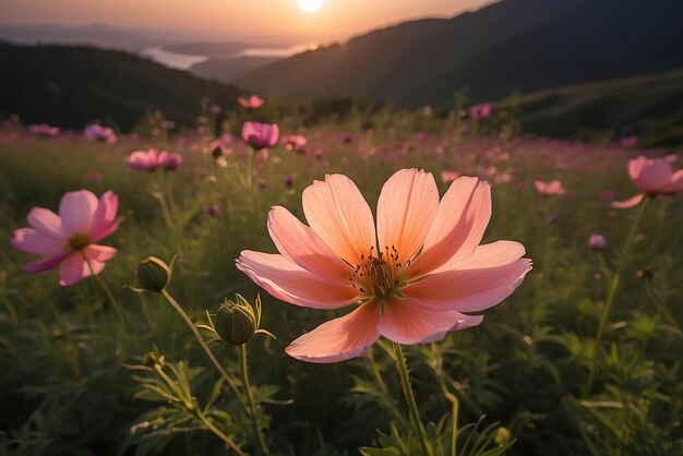
[[[657,195],[611,206],[638,193],[628,160],[679,169],[679,151],[518,135],[504,112],[476,121],[382,110],[313,127],[261,118],[308,143],[254,154],[239,135],[251,116],[229,112],[231,133],[218,142],[208,110],[179,132],[152,113],[116,144],[3,122],[1,455],[683,454],[683,203]],[[152,147],[182,164],[153,172],[127,165]],[[453,180],[443,171],[488,180],[482,243],[518,241],[534,264],[480,325],[404,347],[422,424],[404,401],[387,339],[347,361],[293,359],[285,347],[348,310],[281,302],[235,263],[245,249],[276,252],[272,206],[305,221],[301,195],[314,180],[348,176],[374,213],[382,185],[403,168],[433,173],[440,195]],[[555,179],[561,194],[535,185]],[[26,274],[36,255],[10,245],[14,231],[32,207],[57,211],[81,189],[119,196],[123,220],[98,242],[116,256],[74,286],[60,286],[56,271]],[[591,248],[591,233],[607,245]],[[132,289],[151,255],[168,264],[177,255],[164,295]],[[260,327],[274,337],[254,334],[236,347],[211,329],[236,293],[252,305],[260,297]]]

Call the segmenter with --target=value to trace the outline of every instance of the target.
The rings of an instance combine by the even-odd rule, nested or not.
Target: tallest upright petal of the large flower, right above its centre
[[[424,244],[439,207],[439,189],[431,172],[402,169],[392,176],[378,201],[380,249],[395,247],[406,262]]]

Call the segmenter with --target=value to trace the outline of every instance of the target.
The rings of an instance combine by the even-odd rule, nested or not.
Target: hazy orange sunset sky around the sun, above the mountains
[[[307,13],[297,0],[0,0],[0,24],[105,23],[206,39],[328,43],[409,19],[450,17],[492,2],[325,0],[317,12]]]

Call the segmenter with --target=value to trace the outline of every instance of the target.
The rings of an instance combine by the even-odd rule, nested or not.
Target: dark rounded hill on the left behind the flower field
[[[128,131],[159,109],[195,125],[202,99],[236,105],[233,86],[171,70],[127,52],[88,47],[0,43],[0,111],[27,123],[82,129],[99,119]]]

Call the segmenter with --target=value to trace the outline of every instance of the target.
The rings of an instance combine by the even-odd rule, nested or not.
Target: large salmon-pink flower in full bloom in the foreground
[[[279,254],[245,250],[237,266],[274,297],[314,309],[356,309],[295,340],[286,351],[310,362],[360,356],[380,336],[427,344],[481,323],[531,269],[518,242],[479,245],[491,216],[489,184],[457,179],[441,202],[431,173],[403,169],[372,212],[344,175],[303,192],[310,225],[276,206],[268,230]]]

